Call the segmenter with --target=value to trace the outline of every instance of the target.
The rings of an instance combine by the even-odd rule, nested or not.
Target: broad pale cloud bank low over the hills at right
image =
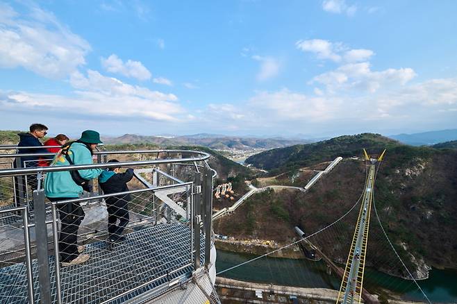
[[[309,96],[288,89],[256,92],[242,105],[208,105],[203,120],[224,121],[224,126],[242,126],[264,134],[289,129],[341,134],[414,125],[449,128],[456,126],[456,108],[457,78],[448,78],[390,87],[376,94],[335,96],[319,89]]]

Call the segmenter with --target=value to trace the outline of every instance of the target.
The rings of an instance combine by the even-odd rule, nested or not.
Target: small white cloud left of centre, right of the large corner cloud
[[[126,62],[123,62],[115,54],[108,58],[101,58],[101,65],[106,71],[136,78],[140,81],[146,81],[151,78],[151,72],[140,61],[128,59]]]

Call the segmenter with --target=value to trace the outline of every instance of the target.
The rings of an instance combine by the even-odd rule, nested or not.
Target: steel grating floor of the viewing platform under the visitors
[[[126,293],[112,303],[123,303],[163,283],[190,274],[190,228],[183,224],[160,224],[125,235],[124,242],[107,251],[104,242],[86,246],[90,260],[61,267],[63,303],[101,303]],[[201,238],[201,261],[204,238]],[[183,269],[173,272],[180,267]],[[51,295],[56,301],[54,257],[49,257]],[[160,278],[164,276],[163,278]],[[38,263],[33,260],[35,303],[40,301]],[[128,292],[144,283],[144,287]],[[0,303],[27,303],[26,267],[15,264],[0,269]]]

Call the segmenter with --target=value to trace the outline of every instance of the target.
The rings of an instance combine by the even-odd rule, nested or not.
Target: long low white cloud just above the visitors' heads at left
[[[78,113],[79,116],[135,117],[158,121],[179,121],[186,113],[177,103],[174,94],[151,91],[122,83],[116,78],[88,70],[87,76],[75,72],[70,84],[76,89],[74,96],[9,92],[3,100],[5,110],[13,108],[47,108],[50,111]]]

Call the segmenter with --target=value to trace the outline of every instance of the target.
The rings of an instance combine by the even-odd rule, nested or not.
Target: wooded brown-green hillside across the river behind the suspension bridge
[[[457,269],[456,150],[407,146],[381,135],[362,134],[275,149],[254,155],[250,162],[271,172],[289,172],[288,169],[330,161],[338,155],[361,157],[363,148],[375,154],[387,149],[376,178],[374,199],[394,245],[404,254],[406,251],[401,248],[408,248],[408,252],[433,267]],[[289,179],[291,176],[293,174],[281,175]],[[233,216],[215,223],[215,230],[235,237],[288,242],[294,237],[294,226],[312,233],[344,214],[363,191],[364,178],[364,162],[360,158],[345,158],[309,192],[251,196]],[[284,183],[292,184],[290,180]],[[350,235],[353,228],[347,226],[345,233]],[[379,234],[374,233],[376,237]],[[330,246],[327,249],[333,252],[335,260],[344,260],[347,255],[342,248],[326,246]],[[379,245],[371,246],[369,264],[383,258],[378,256],[381,251],[376,246]],[[411,262],[408,255],[405,259]]]

